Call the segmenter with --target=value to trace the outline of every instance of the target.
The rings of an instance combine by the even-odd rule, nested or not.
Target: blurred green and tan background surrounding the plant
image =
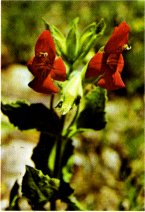
[[[72,19],[79,29],[104,18],[106,30],[98,51],[114,26],[125,20],[131,28],[130,51],[124,52],[122,78],[126,88],[108,92],[107,126],[74,139],[75,169],[72,187],[87,210],[144,210],[144,1],[1,1],[1,91],[2,101],[25,99],[49,103],[49,97],[32,91],[26,63],[34,54],[42,18],[65,35]],[[21,178],[39,133],[19,131],[2,114],[2,199],[8,206],[10,189]],[[23,204],[23,209],[29,209]],[[61,209],[61,207],[60,207]]]

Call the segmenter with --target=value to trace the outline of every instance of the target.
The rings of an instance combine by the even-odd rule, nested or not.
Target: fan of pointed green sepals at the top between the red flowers
[[[46,29],[49,29],[54,38],[58,55],[61,55],[67,63],[73,64],[78,59],[83,59],[90,49],[95,46],[98,38],[103,35],[106,28],[105,22],[101,19],[98,23],[89,24],[81,36],[78,31],[79,18],[75,18],[70,25],[67,37],[55,27],[44,20]]]

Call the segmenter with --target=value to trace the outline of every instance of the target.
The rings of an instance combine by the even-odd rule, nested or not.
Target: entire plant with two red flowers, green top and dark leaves
[[[27,64],[34,76],[29,87],[35,92],[51,95],[49,108],[25,101],[2,103],[2,112],[14,126],[40,132],[32,154],[35,168],[26,166],[21,189],[32,210],[45,210],[48,202],[50,209],[56,210],[56,200],[66,203],[66,210],[83,210],[70,186],[73,138],[80,132],[103,129],[106,125],[105,89],[125,86],[121,72],[124,66],[122,53],[127,48],[130,30],[127,23],[122,22],[116,27],[105,47],[83,66],[84,58],[103,35],[106,25],[101,19],[87,26],[80,36],[78,20],[72,21],[66,39],[55,26],[45,21],[46,30],[38,37],[35,55]],[[83,68],[80,70],[77,64]],[[60,98],[53,106],[56,93]],[[18,188],[16,183],[9,209],[18,208]]]

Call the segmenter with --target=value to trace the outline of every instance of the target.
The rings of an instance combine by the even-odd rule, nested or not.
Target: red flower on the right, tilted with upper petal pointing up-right
[[[128,43],[129,31],[125,21],[115,27],[104,51],[96,53],[90,60],[86,78],[101,76],[98,85],[108,90],[125,87],[120,74],[124,67],[122,51]]]

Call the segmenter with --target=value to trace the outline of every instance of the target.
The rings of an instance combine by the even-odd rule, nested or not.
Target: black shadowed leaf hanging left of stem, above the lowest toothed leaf
[[[51,169],[48,167],[48,161],[50,160],[50,153],[55,145],[55,136],[47,133],[41,133],[39,142],[33,150],[31,159],[35,163],[35,167],[41,170],[44,174],[51,176]]]

